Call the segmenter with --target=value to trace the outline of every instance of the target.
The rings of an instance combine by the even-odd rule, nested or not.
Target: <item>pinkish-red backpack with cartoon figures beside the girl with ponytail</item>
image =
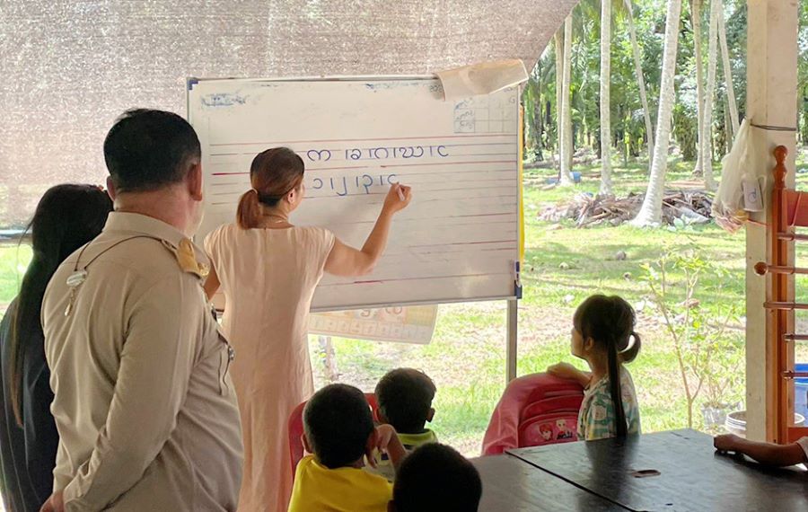
[[[525,375],[505,388],[488,423],[483,455],[511,448],[578,440],[578,410],[584,388],[549,374]]]

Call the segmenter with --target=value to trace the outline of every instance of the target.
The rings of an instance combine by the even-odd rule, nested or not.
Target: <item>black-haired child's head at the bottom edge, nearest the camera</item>
[[[417,447],[401,463],[390,510],[476,512],[481,494],[477,468],[454,448],[430,443]]]

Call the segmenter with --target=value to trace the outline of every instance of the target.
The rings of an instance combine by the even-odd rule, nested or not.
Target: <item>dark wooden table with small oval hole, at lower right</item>
[[[808,511],[808,472],[718,455],[713,438],[694,430],[508,453],[629,510]],[[659,474],[637,478],[641,470]]]

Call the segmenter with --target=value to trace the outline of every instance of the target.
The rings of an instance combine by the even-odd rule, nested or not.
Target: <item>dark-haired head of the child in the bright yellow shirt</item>
[[[373,414],[364,393],[330,384],[314,393],[303,410],[304,443],[329,469],[352,465],[364,455],[373,434]]]

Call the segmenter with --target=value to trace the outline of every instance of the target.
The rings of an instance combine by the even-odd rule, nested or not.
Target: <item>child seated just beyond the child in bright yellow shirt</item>
[[[376,384],[375,392],[379,421],[396,429],[405,450],[410,452],[417,446],[437,442],[435,433],[426,428],[426,422],[435,416],[432,408],[435,383],[425,373],[413,368],[391,370]],[[390,458],[380,454],[376,462],[376,467],[368,471],[393,481],[395,472]]]

